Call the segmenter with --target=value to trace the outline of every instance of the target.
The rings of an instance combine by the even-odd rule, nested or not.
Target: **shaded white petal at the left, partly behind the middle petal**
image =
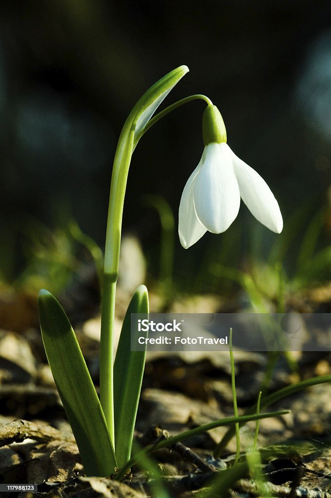
[[[207,232],[197,218],[193,202],[194,179],[200,167],[201,161],[186,182],[179,204],[178,234],[184,249],[193,246]]]

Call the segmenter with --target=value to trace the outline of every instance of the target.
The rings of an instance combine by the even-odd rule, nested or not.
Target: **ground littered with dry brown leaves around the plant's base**
[[[120,293],[119,293],[120,295]],[[14,296],[13,299],[22,299]],[[123,297],[123,302],[126,297]],[[0,332],[0,484],[38,483],[37,492],[2,492],[1,497],[146,497],[161,496],[153,477],[138,467],[121,483],[86,478],[75,440],[47,365],[33,301],[27,300],[25,322],[17,317],[14,330]],[[32,304],[31,304],[32,303]],[[186,304],[192,305],[192,299]],[[215,296],[196,298],[195,311],[217,311]],[[13,307],[1,313],[14,313]],[[118,301],[118,323],[125,309]],[[182,308],[183,309],[183,308]],[[3,321],[4,323],[5,321]],[[99,330],[97,313],[75,330],[92,378],[98,386]],[[16,325],[15,325],[16,324]],[[262,353],[234,352],[240,413],[256,402],[267,365]],[[331,373],[331,354],[305,353],[296,358],[297,371],[280,355],[270,391],[299,379]],[[227,353],[149,354],[136,423],[142,446],[159,437],[233,415],[230,362]],[[328,498],[331,486],[331,383],[323,383],[283,399],[268,411],[291,413],[260,422],[259,468],[269,483],[266,491],[248,472],[226,492],[247,496],[306,496]],[[241,450],[253,441],[255,423],[240,430]],[[234,438],[221,458],[213,451],[226,428],[217,428],[184,441],[185,446],[153,455],[170,497],[193,497],[208,488],[214,475],[233,463]],[[154,439],[153,439],[154,438]],[[189,448],[189,449],[188,449]],[[191,451],[190,451],[191,450]],[[156,490],[156,491],[155,491]],[[215,495],[217,496],[217,495]]]

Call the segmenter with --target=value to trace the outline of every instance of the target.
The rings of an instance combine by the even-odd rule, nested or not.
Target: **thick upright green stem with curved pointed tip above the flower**
[[[118,276],[122,215],[127,175],[133,150],[144,133],[148,121],[163,99],[188,70],[187,66],[180,66],[177,69],[174,69],[157,81],[139,99],[126,119],[120,133],[112,167],[101,305],[100,401],[113,447],[115,447],[113,328],[115,317],[115,291]]]

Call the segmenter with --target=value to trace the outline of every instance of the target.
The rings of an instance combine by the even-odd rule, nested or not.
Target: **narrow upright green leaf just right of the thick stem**
[[[131,351],[131,313],[148,313],[148,293],[140,285],[127,308],[114,362],[115,453],[118,467],[131,455],[133,431],[137,415],[145,351]],[[147,337],[141,333],[141,336]]]

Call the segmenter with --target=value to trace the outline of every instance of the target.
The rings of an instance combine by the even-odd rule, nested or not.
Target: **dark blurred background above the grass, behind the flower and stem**
[[[194,93],[210,97],[223,116],[228,144],[265,178],[285,222],[308,206],[308,223],[327,204],[330,1],[3,0],[0,16],[5,277],[21,269],[21,233],[31,216],[52,227],[66,213],[104,246],[121,126],[143,92],[181,64],[190,73],[162,106]],[[176,110],[134,152],[123,223],[151,261],[159,220],[142,196],[163,196],[177,223],[183,187],[203,151],[203,110],[200,101]],[[254,230],[272,245],[277,236],[251,228],[256,225],[242,205],[228,237],[240,226],[243,248]],[[176,238],[179,275],[216,240],[207,234],[185,251]],[[153,263],[150,271],[156,271]]]

